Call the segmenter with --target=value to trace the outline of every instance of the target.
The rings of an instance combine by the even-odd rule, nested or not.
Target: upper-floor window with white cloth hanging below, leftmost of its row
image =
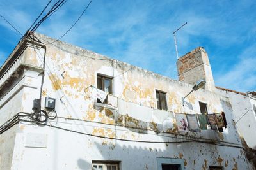
[[[103,76],[97,74],[97,89],[103,90],[109,94],[113,94],[112,91],[112,78],[109,76]]]

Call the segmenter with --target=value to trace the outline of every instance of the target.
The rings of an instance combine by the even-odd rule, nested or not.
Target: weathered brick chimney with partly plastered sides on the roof
[[[195,85],[198,80],[205,80],[204,89],[214,92],[215,84],[208,55],[203,47],[198,47],[177,61],[179,81]]]

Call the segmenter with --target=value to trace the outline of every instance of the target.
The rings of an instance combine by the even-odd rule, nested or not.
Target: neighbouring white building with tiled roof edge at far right
[[[234,114],[242,143],[246,148],[246,155],[256,166],[256,92],[237,92],[235,90],[217,87],[216,92],[228,97]]]

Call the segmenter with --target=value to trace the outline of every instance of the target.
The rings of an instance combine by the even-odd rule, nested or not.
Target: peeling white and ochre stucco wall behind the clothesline
[[[29,63],[42,67],[42,53],[32,48],[25,57],[34,56],[35,60]],[[93,160],[120,161],[122,170],[157,169],[157,157],[183,159],[185,169],[252,169],[247,164],[232,106],[226,97],[200,89],[186,99],[190,108],[184,107],[182,97],[192,85],[62,42],[46,46],[45,61],[42,108],[45,97],[55,98],[58,118],[45,125],[19,124],[12,169],[91,169]],[[31,87],[23,89],[20,99],[20,109],[30,113],[41,85],[40,74],[34,73],[27,81]],[[127,107],[132,103],[129,110],[144,107],[135,113],[136,118],[132,117],[134,113],[121,115],[120,108],[95,105],[95,99],[84,89],[97,85],[97,73],[114,77],[114,95]],[[156,89],[166,92],[168,111],[156,111],[155,118],[144,120],[143,114],[152,114],[157,108]],[[200,113],[198,101],[208,104],[209,113],[225,112],[228,126],[223,133],[211,129],[177,131],[173,111]],[[164,131],[164,120],[173,128]]]

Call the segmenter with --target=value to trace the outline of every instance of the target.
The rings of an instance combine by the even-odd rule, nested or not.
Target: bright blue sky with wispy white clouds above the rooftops
[[[2,1],[0,13],[24,34],[48,1]],[[68,0],[37,32],[59,38],[88,0]],[[76,26],[61,39],[93,52],[177,79],[179,55],[204,46],[216,85],[256,90],[256,1],[93,0]],[[20,35],[0,18],[0,65]]]

